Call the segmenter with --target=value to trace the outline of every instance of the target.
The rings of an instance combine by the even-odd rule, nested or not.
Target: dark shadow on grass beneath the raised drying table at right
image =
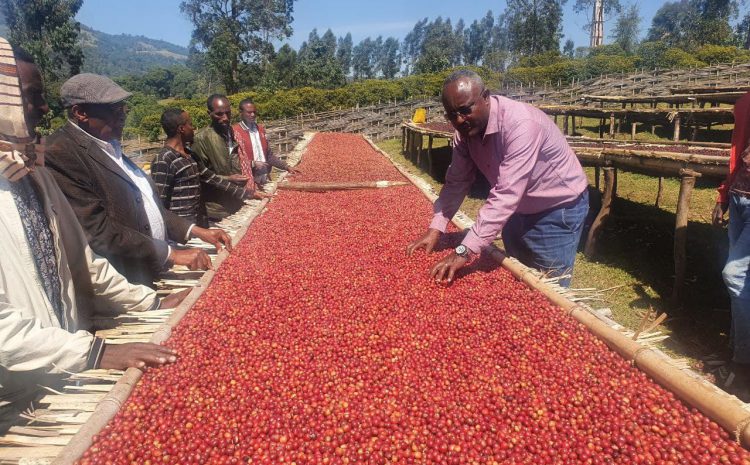
[[[594,261],[630,273],[640,284],[634,309],[653,306],[666,311],[666,325],[682,353],[699,355],[726,344],[729,330],[729,298],[721,279],[727,256],[727,238],[722,230],[706,223],[688,223],[687,266],[682,303],[671,305],[674,285],[674,213],[654,206],[617,198],[612,215],[602,230]],[[653,289],[658,299],[646,290]]]

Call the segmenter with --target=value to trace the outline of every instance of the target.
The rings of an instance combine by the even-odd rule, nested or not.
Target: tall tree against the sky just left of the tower
[[[560,50],[567,0],[508,0],[510,50],[518,56]]]

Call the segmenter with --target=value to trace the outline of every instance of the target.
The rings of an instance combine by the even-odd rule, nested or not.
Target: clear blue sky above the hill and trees
[[[621,0],[628,3],[628,0]],[[583,30],[586,18],[573,12],[575,0],[568,0],[563,17],[565,39],[576,46],[588,45],[588,35]],[[641,34],[645,34],[651,18],[665,0],[640,0]],[[192,26],[179,11],[179,0],[86,0],[78,12],[78,20],[94,29],[110,34],[144,35],[187,46]],[[456,5],[460,5],[460,8]],[[294,5],[294,35],[289,43],[299,48],[313,28],[322,34],[331,28],[336,36],[352,33],[356,44],[366,37],[393,36],[399,40],[411,31],[424,17],[451,18],[453,24],[463,18],[468,26],[482,18],[487,10],[497,16],[505,2],[487,0],[298,0]],[[612,21],[605,24],[605,42],[609,42]]]

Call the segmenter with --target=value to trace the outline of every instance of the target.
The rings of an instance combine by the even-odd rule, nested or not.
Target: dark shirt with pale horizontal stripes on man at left
[[[151,177],[164,208],[199,226],[207,225],[201,183],[210,184],[240,200],[245,196],[243,187],[218,176],[197,157],[186,157],[171,147],[162,148],[156,155],[151,164]]]

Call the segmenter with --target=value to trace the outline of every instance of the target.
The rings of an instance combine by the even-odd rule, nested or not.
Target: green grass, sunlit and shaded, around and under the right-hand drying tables
[[[579,133],[589,136],[598,135],[595,131],[591,126],[579,129]],[[650,130],[648,133],[651,135]],[[654,140],[658,138],[654,136]],[[643,139],[640,133],[639,139]],[[444,147],[436,151],[438,156],[448,158],[446,144],[447,140],[436,139],[434,147]],[[410,172],[440,190],[439,180],[401,154],[400,139],[382,141],[378,145]],[[593,186],[594,169],[586,171]],[[724,349],[729,329],[729,299],[721,280],[727,253],[726,231],[710,224],[716,185],[699,182],[693,192],[688,224],[687,283],[683,303],[679,306],[670,304],[679,181],[664,180],[659,207],[654,206],[657,186],[657,178],[618,173],[617,199],[599,239],[599,250],[592,259],[578,254],[572,288],[605,290],[588,303],[594,308],[610,308],[618,323],[632,329],[640,326],[649,308],[667,312],[669,318],[659,329],[671,337],[663,343],[663,348],[672,355],[696,361]],[[593,194],[592,198],[597,197]],[[482,198],[468,197],[461,208],[474,218],[483,203]],[[593,203],[594,208],[598,208],[596,201]]]

